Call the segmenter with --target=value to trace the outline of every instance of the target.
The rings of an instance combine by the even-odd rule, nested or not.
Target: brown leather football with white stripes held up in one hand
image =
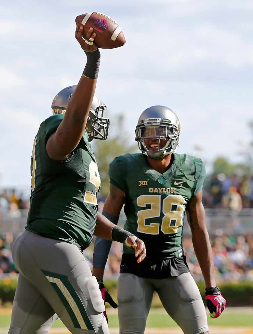
[[[85,38],[90,27],[94,29],[94,43],[101,49],[113,49],[125,44],[125,37],[116,21],[102,13],[86,13],[76,17],[76,25],[83,26]]]

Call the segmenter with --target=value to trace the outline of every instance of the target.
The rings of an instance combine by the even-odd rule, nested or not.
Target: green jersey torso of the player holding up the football
[[[64,114],[41,123],[31,158],[31,197],[26,229],[42,236],[88,247],[97,219],[100,176],[85,132],[70,158],[51,159],[46,143]]]

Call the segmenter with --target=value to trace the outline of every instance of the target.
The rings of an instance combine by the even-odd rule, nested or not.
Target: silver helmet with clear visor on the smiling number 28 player
[[[135,130],[139,149],[152,159],[161,159],[175,152],[179,146],[179,135],[180,122],[177,115],[164,106],[152,106],[144,110]],[[150,140],[153,149],[147,147],[146,139]]]

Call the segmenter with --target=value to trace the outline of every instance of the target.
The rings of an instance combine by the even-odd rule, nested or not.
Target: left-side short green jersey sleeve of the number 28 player
[[[126,192],[125,186],[125,161],[122,156],[116,157],[109,165],[110,183]]]

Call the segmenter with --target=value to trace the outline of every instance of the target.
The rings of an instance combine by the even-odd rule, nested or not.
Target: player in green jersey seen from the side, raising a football
[[[27,226],[12,247],[20,274],[9,334],[48,334],[55,313],[73,334],[108,334],[99,285],[82,252],[95,234],[133,246],[139,263],[145,258],[143,241],[97,213],[100,177],[89,142],[106,139],[109,120],[94,96],[95,33],[91,28],[84,40],[82,32],[76,28],[87,55],[83,75],[55,97],[54,116],[41,123],[33,144]]]

